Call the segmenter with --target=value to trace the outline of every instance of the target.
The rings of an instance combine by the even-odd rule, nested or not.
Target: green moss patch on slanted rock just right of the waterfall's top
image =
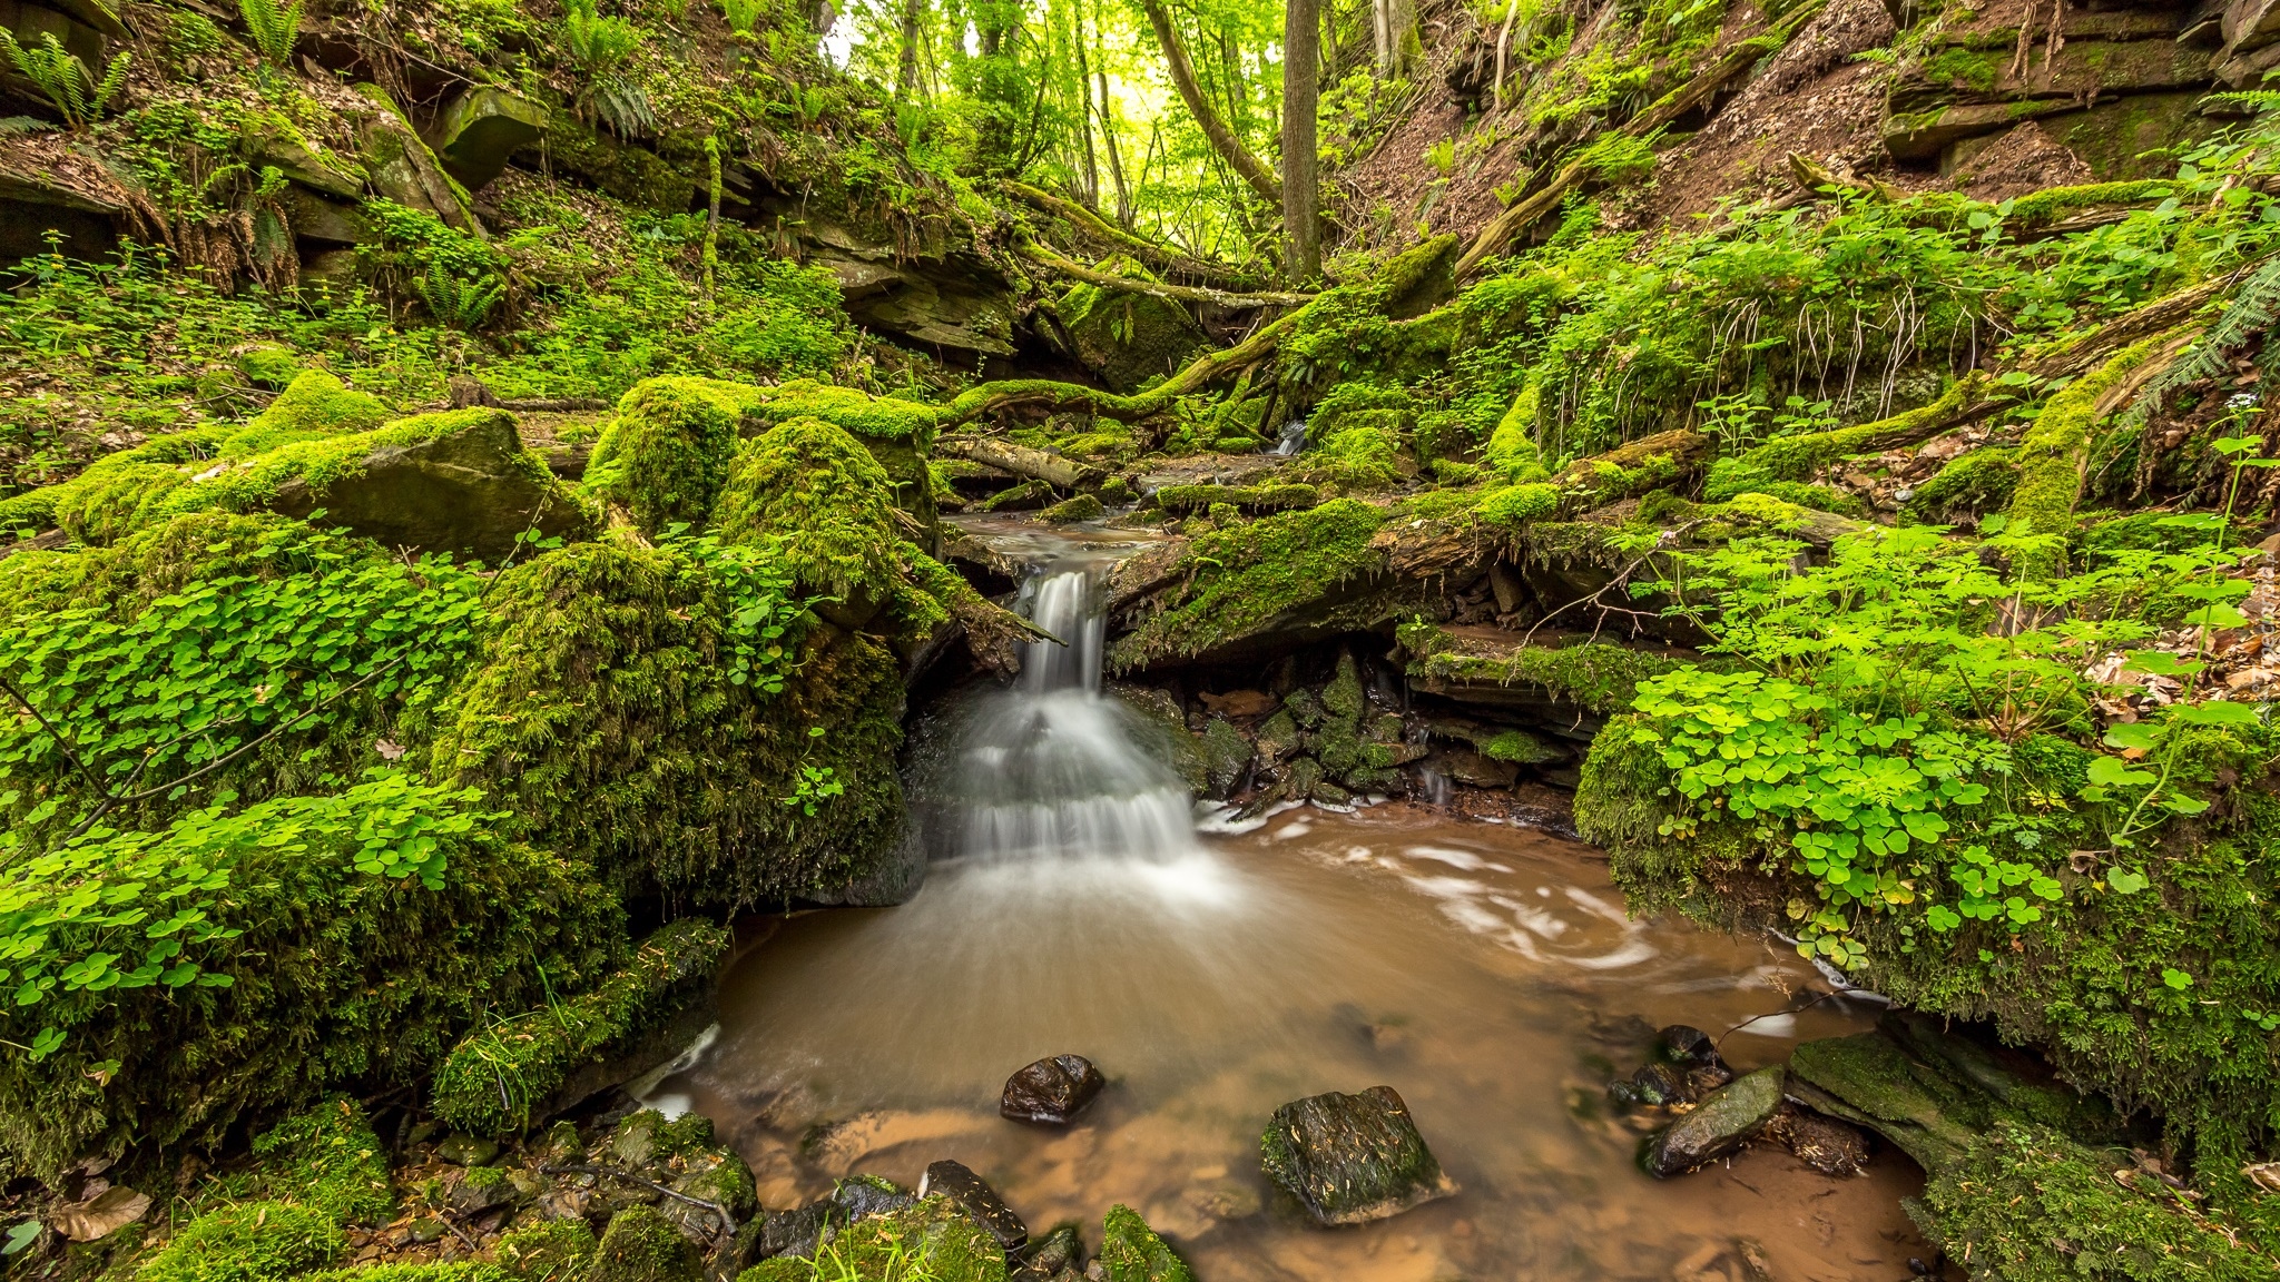
[[[1268,625],[1279,614],[1379,568],[1370,538],[1384,513],[1354,500],[1259,518],[1197,538],[1183,561],[1192,575],[1176,602],[1122,636],[1117,671],[1170,657],[1206,655]]]

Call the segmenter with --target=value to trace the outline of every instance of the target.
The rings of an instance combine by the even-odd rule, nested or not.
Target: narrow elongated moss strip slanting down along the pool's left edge
[[[675,922],[643,940],[632,965],[593,992],[483,1029],[435,1070],[435,1115],[481,1136],[527,1129],[531,1109],[575,1072],[622,1054],[689,1006],[725,951],[727,931]]]

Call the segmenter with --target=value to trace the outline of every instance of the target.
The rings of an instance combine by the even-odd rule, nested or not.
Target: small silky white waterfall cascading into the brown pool
[[[1145,728],[1101,693],[1097,563],[1056,563],[1017,602],[1056,641],[1031,641],[1015,689],[976,709],[951,803],[958,853],[978,862],[1197,853],[1188,789]]]

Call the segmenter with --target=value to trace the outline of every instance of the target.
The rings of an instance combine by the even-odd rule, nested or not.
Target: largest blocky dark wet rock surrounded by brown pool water
[[[1322,1225],[1382,1220],[1457,1191],[1391,1086],[1284,1104],[1259,1147],[1268,1175]]]

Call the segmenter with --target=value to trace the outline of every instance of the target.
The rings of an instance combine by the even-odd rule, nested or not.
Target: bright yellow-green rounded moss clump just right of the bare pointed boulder
[[[618,399],[586,463],[586,490],[622,504],[643,534],[705,525],[711,516],[743,413],[759,388],[718,379],[645,379]]]

